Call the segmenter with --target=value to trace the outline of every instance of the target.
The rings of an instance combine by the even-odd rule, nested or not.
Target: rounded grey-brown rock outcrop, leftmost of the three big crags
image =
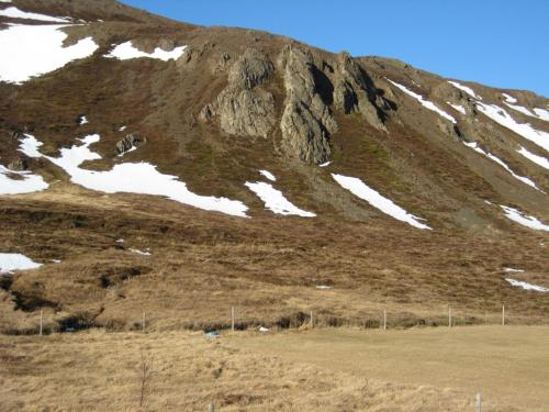
[[[261,52],[248,48],[232,66],[228,86],[217,99],[202,109],[200,119],[217,118],[220,127],[233,135],[262,136],[274,127],[274,97],[259,86],[274,71]]]

